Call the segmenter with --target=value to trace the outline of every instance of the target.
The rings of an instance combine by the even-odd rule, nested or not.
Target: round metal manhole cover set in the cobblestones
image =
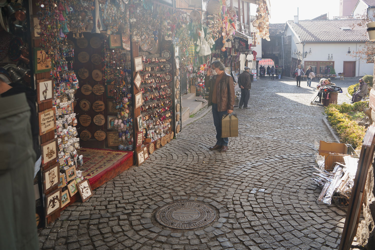
[[[191,229],[213,222],[216,213],[213,208],[201,202],[177,201],[159,208],[155,217],[168,228]]]

